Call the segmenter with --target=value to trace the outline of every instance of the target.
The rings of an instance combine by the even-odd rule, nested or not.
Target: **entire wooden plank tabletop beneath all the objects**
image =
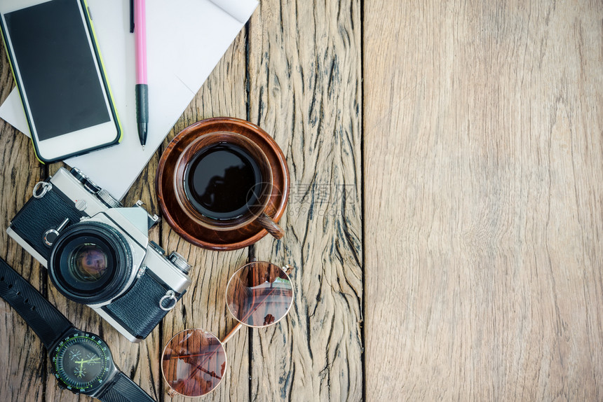
[[[285,240],[205,251],[162,223],[151,239],[193,263],[194,284],[139,345],[65,300],[4,230],[0,256],[158,401],[163,345],[229,331],[222,294],[250,256],[294,265],[294,308],[228,342],[205,400],[601,400],[602,20],[600,1],[262,0],[125,202],[158,211],[179,130],[244,118],[287,156]],[[4,53],[0,79],[4,100]],[[58,166],[4,122],[0,139],[4,228]],[[57,389],[4,303],[0,345],[1,401],[88,400]]]

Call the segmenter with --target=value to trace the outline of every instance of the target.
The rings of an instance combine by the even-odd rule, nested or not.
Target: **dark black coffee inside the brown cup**
[[[226,142],[199,151],[184,172],[191,204],[210,219],[235,219],[257,202],[262,183],[257,162],[240,146]]]

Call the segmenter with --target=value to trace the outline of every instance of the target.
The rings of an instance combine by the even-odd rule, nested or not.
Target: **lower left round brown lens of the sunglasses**
[[[178,394],[201,396],[222,381],[226,371],[226,352],[210,332],[187,329],[165,345],[161,359],[163,378]]]

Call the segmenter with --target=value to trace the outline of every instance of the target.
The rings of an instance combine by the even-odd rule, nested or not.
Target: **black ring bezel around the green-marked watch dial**
[[[67,342],[74,338],[86,338],[87,340],[94,342],[97,347],[100,347],[102,352],[104,352],[104,359],[106,362],[104,373],[97,375],[97,377],[92,380],[92,384],[90,384],[90,386],[86,389],[72,386],[72,384],[69,384],[64,378],[62,378],[57,370],[57,358],[62,350],[62,347],[64,347]],[[118,369],[115,366],[113,356],[111,355],[111,350],[109,349],[107,342],[104,342],[104,339],[100,338],[100,336],[95,333],[74,329],[73,331],[69,331],[63,335],[50,351],[50,372],[53,374],[61,388],[69,389],[69,391],[72,391],[74,394],[84,394],[89,396],[97,394],[100,389],[109,384],[111,378],[114,377],[117,371]]]

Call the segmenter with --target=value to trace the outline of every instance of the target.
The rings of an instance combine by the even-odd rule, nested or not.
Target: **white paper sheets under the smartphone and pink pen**
[[[135,109],[130,2],[88,0],[98,46],[123,128],[121,144],[65,160],[121,199],[257,7],[257,0],[147,0],[149,132],[144,151]],[[29,134],[15,89],[0,118]]]

